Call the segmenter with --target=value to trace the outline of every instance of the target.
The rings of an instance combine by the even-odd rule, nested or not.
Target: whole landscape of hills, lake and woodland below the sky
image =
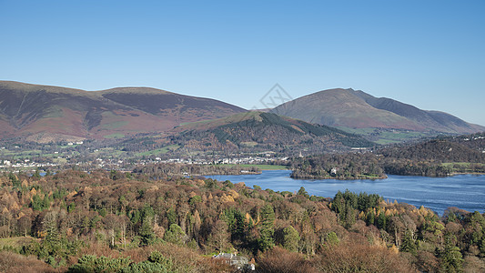
[[[481,126],[348,89],[309,98],[325,117],[295,115],[318,110],[298,110],[308,98],[261,112],[145,87],[0,91],[5,270],[483,268]]]

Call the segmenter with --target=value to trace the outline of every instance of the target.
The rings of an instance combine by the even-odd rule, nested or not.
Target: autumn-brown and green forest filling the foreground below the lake
[[[483,272],[485,218],[378,195],[275,192],[204,177],[0,176],[0,271]]]

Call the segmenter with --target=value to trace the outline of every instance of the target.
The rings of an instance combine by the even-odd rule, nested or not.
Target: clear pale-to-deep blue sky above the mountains
[[[343,87],[485,126],[485,1],[6,1],[0,79],[245,108]]]

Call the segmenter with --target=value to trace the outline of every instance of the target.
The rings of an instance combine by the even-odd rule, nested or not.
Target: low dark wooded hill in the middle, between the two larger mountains
[[[190,150],[248,150],[314,154],[323,151],[372,147],[361,136],[329,126],[272,113],[248,112],[209,121],[178,126],[171,136],[173,144]]]

